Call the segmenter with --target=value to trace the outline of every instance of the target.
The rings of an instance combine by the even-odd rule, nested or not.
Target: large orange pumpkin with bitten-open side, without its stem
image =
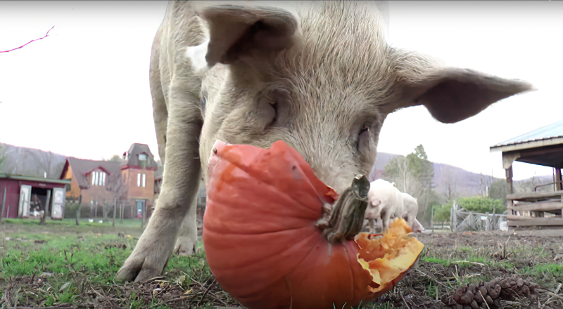
[[[248,308],[342,308],[384,294],[423,245],[403,219],[382,237],[331,244],[315,225],[338,198],[283,141],[270,149],[217,142],[203,245],[222,288]]]

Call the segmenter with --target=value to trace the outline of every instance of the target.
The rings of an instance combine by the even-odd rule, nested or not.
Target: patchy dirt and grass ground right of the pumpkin
[[[417,239],[425,245],[419,261],[377,303],[403,308],[563,308],[562,237],[461,232],[424,233]],[[501,292],[491,294],[495,285],[502,285]],[[481,295],[488,288],[490,303],[484,299],[488,296],[477,295],[480,287]],[[460,299],[468,293],[475,302]]]

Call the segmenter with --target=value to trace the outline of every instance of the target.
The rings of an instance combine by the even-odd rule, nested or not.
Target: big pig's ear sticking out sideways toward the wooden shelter
[[[411,54],[399,59],[395,67],[400,95],[386,105],[388,112],[424,105],[435,119],[451,124],[479,114],[498,100],[532,90],[526,81],[443,67],[423,56]]]

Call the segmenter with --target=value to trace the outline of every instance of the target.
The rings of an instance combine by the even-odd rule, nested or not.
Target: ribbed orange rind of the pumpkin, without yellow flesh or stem
[[[227,148],[229,151],[226,151]],[[229,156],[232,156],[232,161],[237,165],[243,168],[251,166],[251,168],[247,170],[248,172],[241,171],[234,164],[224,160],[224,152],[232,152]],[[252,159],[244,155],[246,152],[251,153]],[[377,298],[404,276],[405,272],[381,287],[382,291],[377,294],[370,293],[369,287],[379,287],[379,285],[372,282],[371,275],[360,263],[354,263],[354,261],[358,262],[357,254],[360,246],[354,241],[330,245],[327,239],[322,237],[321,231],[315,227],[317,219],[322,214],[324,202],[334,199],[335,195],[331,193],[334,190],[331,191],[318,180],[303,157],[285,143],[274,143],[270,150],[255,149],[248,145],[227,145],[218,151],[213,160],[215,160],[213,164],[210,162],[213,168],[208,170],[212,188],[209,190],[208,187],[208,209],[205,211],[203,224],[203,243],[208,254],[208,263],[217,282],[243,305],[260,309],[289,308],[289,305],[293,305],[292,308],[332,308],[331,301],[335,301],[339,307],[344,302],[347,305],[357,305],[362,299]],[[272,162],[274,168],[270,166]],[[301,168],[303,164],[306,167]],[[297,171],[298,175],[291,173],[293,166],[296,166],[293,171]],[[222,178],[222,172],[227,170],[230,170],[229,177]],[[244,175],[245,173],[250,174]],[[310,175],[307,175],[308,173]],[[233,177],[237,175],[241,178]],[[258,179],[263,179],[262,183],[255,179],[255,175],[258,175]],[[298,179],[295,176],[298,176]],[[217,178],[222,183],[214,183]],[[260,185],[258,188],[263,188],[265,183],[278,190],[255,188],[257,184]],[[309,183],[312,188],[301,187],[303,183]],[[213,190],[219,185],[221,190]],[[323,185],[324,188],[317,189],[319,185]],[[225,197],[220,197],[221,195]],[[296,202],[289,203],[287,199],[279,198],[281,195],[295,197]],[[255,200],[249,203],[247,202],[249,197]],[[310,204],[306,204],[304,200]],[[289,204],[285,204],[286,202]],[[318,209],[317,218],[311,218],[311,230],[305,228],[300,232],[299,229],[295,229],[290,230],[284,237],[272,237],[273,234],[282,232],[255,234],[253,227],[249,226],[260,225],[263,222],[260,218],[266,217],[273,218],[276,222],[299,225],[301,221],[293,216],[303,216],[302,210],[294,207],[301,204],[305,204],[308,209]],[[267,213],[269,206],[281,209]],[[287,218],[282,216],[275,218],[276,215],[280,216],[279,213],[285,213],[286,209],[283,207],[290,207],[294,211],[288,211]],[[237,228],[243,232],[228,234],[225,227],[234,220],[234,216],[241,218]],[[308,218],[309,215],[306,217]],[[250,222],[244,225],[242,224],[244,221]],[[271,231],[272,226],[276,225],[262,225],[257,230]],[[249,230],[253,232],[249,234]],[[291,232],[295,233],[295,236],[291,235]],[[331,255],[323,251],[328,246],[332,246]],[[287,249],[277,250],[280,247]],[[227,261],[227,256],[236,261]],[[246,263],[251,261],[248,268],[233,267],[245,261]],[[342,287],[345,287],[346,293],[342,292]],[[308,289],[309,294],[303,293],[305,291],[303,289]],[[322,299],[317,298],[320,296]],[[293,303],[290,304],[290,301]]]

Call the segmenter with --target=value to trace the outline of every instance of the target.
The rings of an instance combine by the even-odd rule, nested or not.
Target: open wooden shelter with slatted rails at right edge
[[[491,147],[491,152],[502,151],[502,167],[510,194],[507,223],[512,228],[563,228],[563,120],[543,126]],[[512,188],[512,163],[514,161],[550,166],[553,181],[536,186],[533,192],[514,193]],[[552,192],[536,192],[549,186]]]

